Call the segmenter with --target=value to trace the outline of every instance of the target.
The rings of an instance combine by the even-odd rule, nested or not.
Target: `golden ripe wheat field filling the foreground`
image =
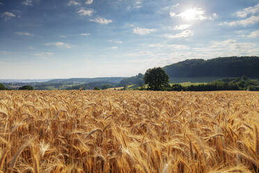
[[[0,172],[258,172],[259,93],[1,91]]]

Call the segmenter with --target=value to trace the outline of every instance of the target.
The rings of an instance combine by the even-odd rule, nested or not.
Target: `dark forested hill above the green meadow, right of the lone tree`
[[[187,59],[164,70],[170,77],[259,77],[259,57]]]

